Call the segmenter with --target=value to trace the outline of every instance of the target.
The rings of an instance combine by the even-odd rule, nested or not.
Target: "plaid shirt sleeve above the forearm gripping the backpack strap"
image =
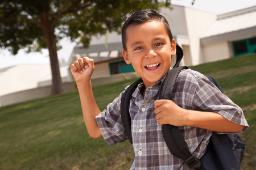
[[[184,83],[182,88],[185,91],[184,97],[187,98],[187,106],[184,107],[197,111],[217,112],[229,121],[245,126],[241,132],[249,128],[242,109],[222,94],[206,76],[189,69],[181,72],[180,81]]]

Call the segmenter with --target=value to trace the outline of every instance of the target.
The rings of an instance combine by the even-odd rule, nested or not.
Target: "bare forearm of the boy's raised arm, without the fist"
[[[82,114],[86,129],[92,138],[102,137],[101,131],[96,122],[96,116],[101,113],[93,96],[92,84],[89,82],[78,82],[77,88],[82,107]]]

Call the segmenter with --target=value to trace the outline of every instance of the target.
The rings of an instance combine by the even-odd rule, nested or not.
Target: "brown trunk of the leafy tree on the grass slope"
[[[49,25],[51,25],[49,22],[47,22],[47,24],[43,24],[42,29],[44,33],[44,38],[46,39],[47,48],[49,50],[49,58],[51,62],[51,95],[57,95],[63,93],[63,84],[61,83],[59,60],[57,57],[56,36],[54,34],[54,28],[49,27]]]

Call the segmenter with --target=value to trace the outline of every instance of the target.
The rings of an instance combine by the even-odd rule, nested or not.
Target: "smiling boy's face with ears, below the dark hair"
[[[126,29],[126,47],[123,58],[133,65],[146,88],[166,75],[171,56],[176,53],[175,40],[170,41],[166,27],[160,21],[130,25]]]

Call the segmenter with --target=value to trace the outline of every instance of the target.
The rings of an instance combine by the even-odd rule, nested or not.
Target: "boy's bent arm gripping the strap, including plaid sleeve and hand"
[[[194,126],[220,133],[240,133],[249,127],[242,109],[203,74],[189,69],[181,71],[175,87],[175,103],[155,101],[159,124]]]

